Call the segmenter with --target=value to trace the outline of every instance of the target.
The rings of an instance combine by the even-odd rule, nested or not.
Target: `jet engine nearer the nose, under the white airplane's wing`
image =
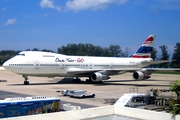
[[[95,72],[91,75],[91,80],[94,82],[99,82],[99,81],[107,80],[107,79],[109,79],[109,77],[107,75],[103,75],[100,72]]]

